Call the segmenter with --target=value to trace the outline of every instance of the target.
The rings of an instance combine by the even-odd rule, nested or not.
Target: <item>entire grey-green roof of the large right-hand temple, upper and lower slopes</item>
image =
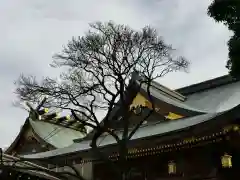
[[[209,85],[210,83],[210,85]],[[205,87],[205,89],[204,89]],[[158,100],[165,104],[170,104],[176,108],[196,112],[191,117],[181,118],[178,120],[159,122],[157,124],[149,124],[140,127],[134,134],[131,140],[142,139],[150,136],[159,136],[172,132],[182,131],[205,122],[217,119],[223,114],[239,110],[240,105],[240,81],[233,80],[229,76],[216,78],[203,83],[195,84],[189,87],[178,89],[185,95],[184,100],[177,100],[170,98],[163,94],[151,89],[151,93]],[[144,87],[143,87],[144,90]],[[121,132],[119,132],[119,135]],[[112,138],[104,136],[99,138],[99,146],[106,146],[114,144]],[[66,148],[56,149],[44,153],[33,155],[25,155],[27,159],[44,159],[54,156],[65,156],[72,153],[80,153],[89,151],[90,140],[84,140],[79,143],[74,143]]]

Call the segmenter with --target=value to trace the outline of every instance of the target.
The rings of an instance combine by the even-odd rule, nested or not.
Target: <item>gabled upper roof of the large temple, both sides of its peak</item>
[[[129,85],[129,91],[132,92],[130,93],[131,100],[137,94],[134,87],[139,85],[141,80],[142,78],[137,73],[133,73]],[[152,82],[150,92],[156,104],[160,104],[161,107],[168,107],[172,112],[174,111],[185,117],[191,117],[226,111],[237,106],[240,103],[239,89],[240,81],[225,75],[174,91],[157,82]],[[147,99],[146,91],[146,85],[141,85],[140,92]],[[111,113],[110,119],[114,123],[118,114],[121,114],[119,106],[115,107]],[[91,139],[92,133],[89,133],[84,139]]]

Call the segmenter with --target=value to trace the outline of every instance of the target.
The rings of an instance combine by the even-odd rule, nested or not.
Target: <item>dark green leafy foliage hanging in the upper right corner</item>
[[[214,0],[208,15],[228,26],[234,35],[228,42],[229,59],[226,67],[234,77],[240,76],[240,0]]]

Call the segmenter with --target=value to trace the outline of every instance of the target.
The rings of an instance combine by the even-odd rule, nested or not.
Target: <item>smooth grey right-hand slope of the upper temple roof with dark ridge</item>
[[[146,91],[146,87],[143,86]],[[151,88],[153,97],[175,108],[196,113],[214,113],[231,109],[240,104],[240,81],[229,75],[207,80],[198,84],[176,89],[185,96],[184,101],[164,96],[158,89]]]

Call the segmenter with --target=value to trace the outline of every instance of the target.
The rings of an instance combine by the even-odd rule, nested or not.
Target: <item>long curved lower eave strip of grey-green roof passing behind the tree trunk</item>
[[[222,113],[208,113],[197,115],[189,118],[182,118],[174,121],[165,121],[161,123],[151,124],[147,126],[140,127],[136,133],[132,136],[131,141],[141,140],[153,136],[164,136],[169,133],[176,133],[178,131],[188,130],[191,127],[197,126],[202,123],[209,122],[211,120],[218,119],[221,115],[227,112]],[[122,132],[118,133],[118,136],[121,137]],[[91,140],[82,141],[80,143],[74,143],[69,147],[56,149],[52,151],[47,151],[43,153],[37,153],[32,155],[24,155],[23,158],[30,159],[48,159],[48,158],[57,158],[59,156],[69,156],[72,154],[79,154],[82,152],[89,152]],[[115,140],[110,136],[102,136],[98,140],[99,147],[105,147],[108,145],[116,144]]]

